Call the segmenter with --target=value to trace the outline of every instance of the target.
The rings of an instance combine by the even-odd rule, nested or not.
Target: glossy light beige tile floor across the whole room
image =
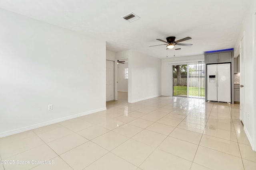
[[[0,170],[256,170],[239,105],[118,98],[106,111],[1,138]]]

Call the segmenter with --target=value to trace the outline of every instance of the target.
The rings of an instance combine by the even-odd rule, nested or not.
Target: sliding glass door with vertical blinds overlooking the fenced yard
[[[173,96],[204,98],[204,62],[173,65]]]

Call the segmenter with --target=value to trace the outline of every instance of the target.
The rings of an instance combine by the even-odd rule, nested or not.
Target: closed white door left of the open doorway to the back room
[[[114,100],[114,61],[106,60],[106,101]]]

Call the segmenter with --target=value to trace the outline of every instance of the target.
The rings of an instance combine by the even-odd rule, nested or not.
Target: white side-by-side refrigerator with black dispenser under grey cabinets
[[[231,103],[231,65],[207,64],[207,101]]]

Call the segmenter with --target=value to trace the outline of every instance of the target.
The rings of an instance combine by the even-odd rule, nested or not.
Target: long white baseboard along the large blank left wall
[[[54,120],[50,120],[50,121],[46,121],[46,122],[42,122],[42,123],[37,123],[37,124],[29,125],[29,126],[26,126],[26,127],[20,127],[20,128],[13,129],[13,130],[10,130],[10,131],[1,132],[0,133],[0,138],[10,136],[10,135],[14,135],[14,134],[21,133],[21,132],[25,132],[25,131],[29,131],[29,130],[36,129],[36,128],[39,128],[39,127],[51,125],[51,124],[54,124],[54,123],[59,123],[61,121],[74,119],[76,117],[89,115],[89,114],[96,113],[96,112],[103,111],[103,110],[106,110],[106,107],[103,107],[103,108],[100,108],[100,109],[95,109],[95,110],[90,110],[90,111],[86,111],[86,112],[82,112],[82,113],[78,113],[78,114],[75,114],[75,115],[61,117],[61,118],[58,118],[58,119],[54,119]]]

